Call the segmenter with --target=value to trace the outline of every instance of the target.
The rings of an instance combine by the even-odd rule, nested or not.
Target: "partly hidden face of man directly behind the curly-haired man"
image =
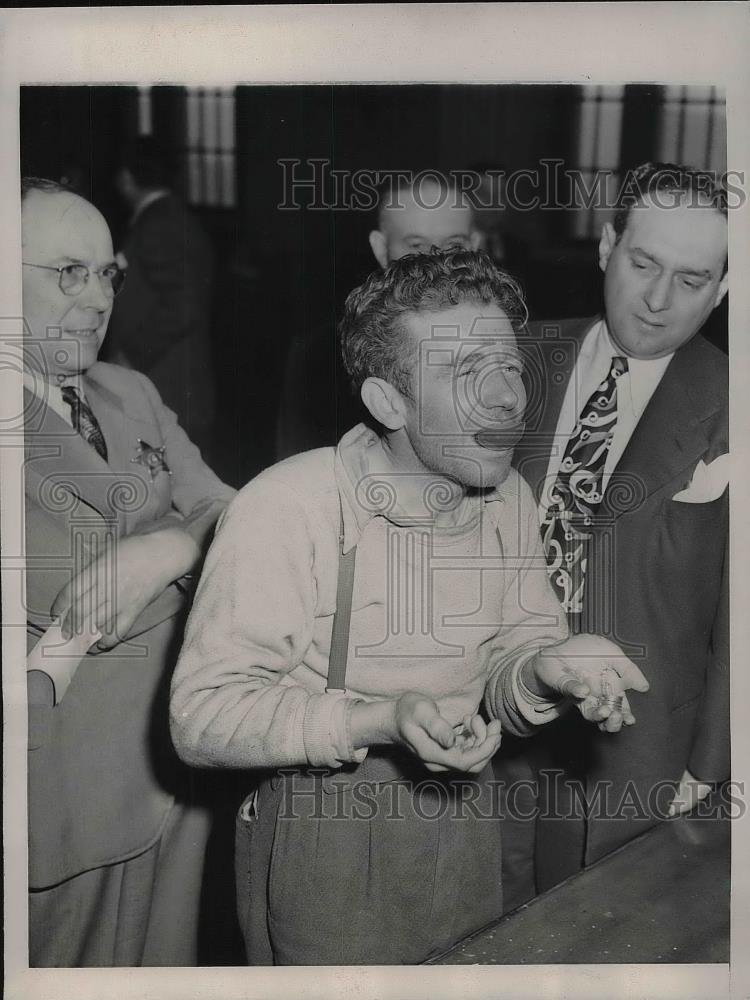
[[[427,253],[432,246],[441,250],[476,249],[478,237],[471,209],[460,201],[457,204],[455,192],[424,183],[418,197],[402,191],[394,193],[393,198],[394,206],[381,212],[380,229],[370,235],[372,251],[381,267],[408,253]]]

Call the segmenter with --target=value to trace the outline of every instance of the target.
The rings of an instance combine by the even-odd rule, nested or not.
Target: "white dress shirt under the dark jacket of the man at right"
[[[622,352],[612,343],[606,322],[599,320],[586,334],[565,392],[539,505],[541,519],[549,506],[548,493],[557,478],[568,439],[576,428],[581,411],[596,387],[607,378],[612,358],[618,356],[622,357]],[[602,493],[671,360],[672,354],[653,361],[628,358],[628,371],[617,380],[617,421],[604,463]]]

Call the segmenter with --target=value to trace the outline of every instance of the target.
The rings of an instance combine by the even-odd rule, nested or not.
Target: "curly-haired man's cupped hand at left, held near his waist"
[[[394,704],[394,743],[420,758],[428,771],[482,770],[500,746],[500,723],[485,723],[480,715],[467,715],[452,727],[431,698],[407,692]]]

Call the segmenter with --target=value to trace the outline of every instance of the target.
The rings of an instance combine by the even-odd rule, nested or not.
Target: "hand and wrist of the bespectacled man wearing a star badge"
[[[170,583],[189,572],[198,546],[179,528],[131,535],[77,574],[55,598],[51,614],[65,639],[89,634],[111,649]],[[99,633],[99,634],[97,634]]]

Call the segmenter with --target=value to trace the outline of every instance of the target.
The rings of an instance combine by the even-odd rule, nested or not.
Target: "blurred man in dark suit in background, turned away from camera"
[[[215,415],[211,243],[170,191],[150,137],[126,152],[115,186],[132,215],[122,246],[128,280],[112,311],[108,357],[148,375],[191,440],[207,449]]]

